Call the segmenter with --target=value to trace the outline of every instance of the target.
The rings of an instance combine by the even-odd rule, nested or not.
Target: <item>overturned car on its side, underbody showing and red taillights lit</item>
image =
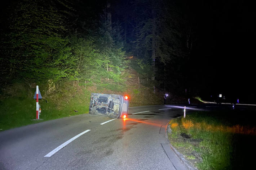
[[[89,114],[127,118],[129,100],[127,96],[91,93]]]

